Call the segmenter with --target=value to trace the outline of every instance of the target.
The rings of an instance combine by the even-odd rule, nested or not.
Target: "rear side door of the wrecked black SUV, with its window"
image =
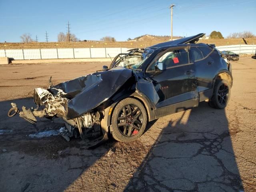
[[[207,46],[191,46],[190,47],[190,58],[194,61],[196,68],[196,79],[198,80],[197,91],[199,94],[200,101],[207,100],[212,96],[212,88],[216,71],[216,64],[211,55],[214,52],[210,47]]]

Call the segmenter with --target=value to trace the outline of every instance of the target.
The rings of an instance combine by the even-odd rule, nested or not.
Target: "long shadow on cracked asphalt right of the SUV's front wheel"
[[[225,110],[201,102],[155,123],[167,126],[124,191],[243,191]],[[163,127],[163,126],[162,126]]]

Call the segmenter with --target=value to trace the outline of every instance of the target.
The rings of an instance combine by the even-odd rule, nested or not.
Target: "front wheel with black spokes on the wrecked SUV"
[[[110,132],[115,140],[130,142],[139,138],[147,124],[146,109],[134,99],[126,98],[114,108]]]

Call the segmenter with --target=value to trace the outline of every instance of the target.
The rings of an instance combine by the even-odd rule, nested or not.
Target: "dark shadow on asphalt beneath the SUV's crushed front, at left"
[[[32,98],[0,102],[0,191],[64,191],[115,143],[110,140],[88,150],[81,139],[66,142],[60,135],[30,138],[29,134],[38,131],[57,132],[64,123],[61,119],[43,118],[38,120],[37,131],[18,115],[7,116],[11,102],[19,108],[22,105],[34,106]]]

